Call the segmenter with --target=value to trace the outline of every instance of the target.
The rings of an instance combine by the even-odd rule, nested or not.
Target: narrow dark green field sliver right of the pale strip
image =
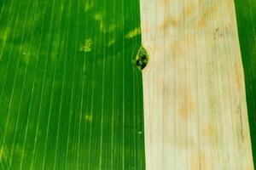
[[[247,92],[247,111],[256,162],[256,1],[235,0],[241,57]]]

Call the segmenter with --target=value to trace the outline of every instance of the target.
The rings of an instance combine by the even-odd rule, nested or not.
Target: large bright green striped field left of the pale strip
[[[145,169],[139,0],[0,0],[0,169]]]

